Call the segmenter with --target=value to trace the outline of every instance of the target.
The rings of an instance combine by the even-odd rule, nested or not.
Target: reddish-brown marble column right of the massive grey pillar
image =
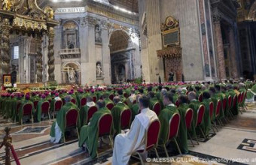
[[[213,16],[214,29],[215,29],[215,41],[218,61],[218,77],[220,80],[226,79],[224,47],[221,34],[221,17],[218,14]]]

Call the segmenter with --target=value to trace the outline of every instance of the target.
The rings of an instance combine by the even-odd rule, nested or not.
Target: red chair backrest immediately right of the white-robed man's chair
[[[181,121],[181,115],[179,115],[178,113],[174,113],[172,115],[172,118],[170,118],[168,140],[178,136],[180,121]]]

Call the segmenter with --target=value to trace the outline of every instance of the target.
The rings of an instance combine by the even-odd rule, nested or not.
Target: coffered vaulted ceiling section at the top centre
[[[125,8],[132,12],[138,13],[138,0],[109,0],[112,5],[117,5],[118,7]]]

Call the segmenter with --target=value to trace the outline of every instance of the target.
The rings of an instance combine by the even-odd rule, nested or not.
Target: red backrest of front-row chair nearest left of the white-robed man
[[[111,133],[111,126],[113,122],[113,117],[111,113],[102,115],[98,121],[98,132],[99,137],[109,135]]]

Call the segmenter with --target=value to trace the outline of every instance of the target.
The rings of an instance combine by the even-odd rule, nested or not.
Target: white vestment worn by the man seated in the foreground
[[[145,131],[154,119],[157,119],[154,111],[143,109],[136,115],[127,133],[120,133],[114,139],[114,150],[112,157],[113,165],[126,165],[134,151],[145,148]]]

